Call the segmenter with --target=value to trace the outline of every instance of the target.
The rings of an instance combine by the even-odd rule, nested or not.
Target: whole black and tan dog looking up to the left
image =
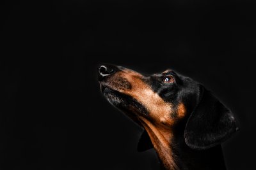
[[[138,151],[154,148],[163,169],[226,169],[221,143],[239,125],[202,83],[172,69],[148,76],[111,64],[98,79],[109,103],[145,129]]]

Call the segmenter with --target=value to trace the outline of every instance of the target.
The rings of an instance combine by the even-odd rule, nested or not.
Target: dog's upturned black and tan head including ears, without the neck
[[[106,99],[134,122],[148,121],[172,131],[184,125],[190,148],[203,150],[219,145],[238,130],[232,112],[205,87],[172,69],[145,76],[120,66],[99,67],[100,89]],[[138,150],[150,148],[143,133]]]

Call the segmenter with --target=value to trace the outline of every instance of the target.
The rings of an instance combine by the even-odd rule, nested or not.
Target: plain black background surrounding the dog
[[[253,1],[6,1],[0,169],[158,169],[141,129],[100,94],[97,67],[172,68],[239,120],[229,169],[255,169]]]

